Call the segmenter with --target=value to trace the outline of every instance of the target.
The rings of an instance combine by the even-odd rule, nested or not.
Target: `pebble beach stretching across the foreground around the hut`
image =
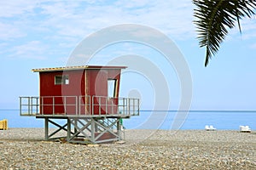
[[[44,128],[0,131],[0,169],[256,169],[256,133],[125,130],[125,143],[44,141]]]

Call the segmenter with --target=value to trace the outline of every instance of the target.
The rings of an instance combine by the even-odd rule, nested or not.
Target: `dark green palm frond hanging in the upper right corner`
[[[240,19],[252,17],[256,8],[255,0],[193,0],[195,26],[200,47],[206,47],[205,66],[218,52],[220,43],[228,34],[228,28],[236,26],[241,32]]]

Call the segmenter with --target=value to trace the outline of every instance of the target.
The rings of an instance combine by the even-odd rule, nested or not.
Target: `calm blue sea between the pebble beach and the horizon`
[[[44,127],[43,119],[20,116],[18,110],[0,110],[0,120],[8,119],[9,127]],[[237,130],[240,125],[256,129],[256,111],[189,111],[187,116],[177,111],[141,111],[140,116],[124,120],[126,128],[171,129],[173,122],[181,129],[204,129],[213,125],[217,129]]]

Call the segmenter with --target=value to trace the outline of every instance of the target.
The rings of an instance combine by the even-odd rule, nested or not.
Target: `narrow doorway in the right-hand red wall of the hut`
[[[116,79],[108,79],[108,114],[117,114],[118,99],[116,98]]]

